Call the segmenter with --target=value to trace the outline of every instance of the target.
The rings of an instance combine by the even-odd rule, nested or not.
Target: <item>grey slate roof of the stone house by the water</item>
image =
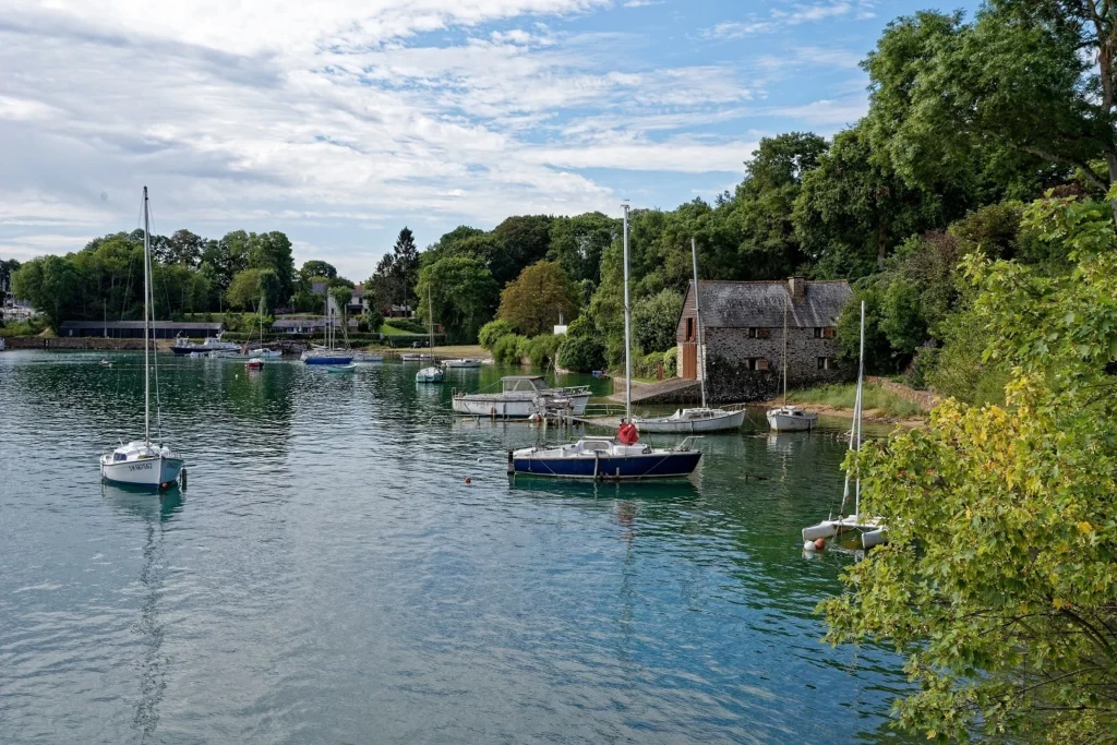
[[[853,290],[844,279],[806,281],[802,298],[792,298],[785,280],[699,281],[701,323],[707,328],[782,327],[790,304],[792,328],[833,326]],[[693,290],[694,283],[687,288]]]

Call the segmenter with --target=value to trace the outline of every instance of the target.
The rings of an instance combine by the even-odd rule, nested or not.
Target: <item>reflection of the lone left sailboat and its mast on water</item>
[[[166,574],[163,551],[164,526],[182,510],[183,495],[178,486],[161,493],[151,489],[102,483],[106,504],[143,526],[143,563],[140,567],[140,614],[132,624],[141,653],[133,666],[139,674],[139,695],[132,728],[146,741],[159,726],[159,707],[166,691],[170,658],[163,652],[166,621],[160,610]]]

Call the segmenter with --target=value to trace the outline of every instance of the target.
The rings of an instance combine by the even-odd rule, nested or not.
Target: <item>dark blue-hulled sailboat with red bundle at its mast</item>
[[[674,448],[652,448],[639,442],[632,422],[632,318],[628,281],[628,202],[624,212],[624,421],[615,438],[583,437],[572,445],[521,448],[508,451],[508,472],[554,478],[642,480],[686,478],[698,467],[701,451],[688,437]]]

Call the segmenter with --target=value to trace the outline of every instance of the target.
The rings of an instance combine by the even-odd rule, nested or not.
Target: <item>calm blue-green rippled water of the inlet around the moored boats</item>
[[[884,738],[897,661],[819,642],[851,560],[799,547],[837,438],[707,438],[681,486],[510,484],[538,430],[448,404],[499,371],[161,360],[189,487],[156,497],[97,472],[141,431],[140,356],[0,354],[3,742]]]

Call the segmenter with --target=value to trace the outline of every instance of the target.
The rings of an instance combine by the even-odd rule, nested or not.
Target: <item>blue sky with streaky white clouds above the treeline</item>
[[[976,2],[949,9],[972,10]],[[509,214],[674,209],[867,108],[908,0],[6,0],[0,258],[283,230],[362,280]]]

